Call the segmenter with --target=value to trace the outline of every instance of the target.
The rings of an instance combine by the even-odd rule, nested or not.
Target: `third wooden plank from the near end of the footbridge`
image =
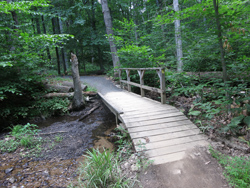
[[[175,138],[171,140],[164,140],[164,141],[153,142],[153,143],[149,142],[147,144],[136,145],[135,149],[136,151],[152,150],[152,149],[158,149],[158,148],[163,148],[167,146],[174,146],[174,145],[179,145],[179,144],[184,144],[184,143],[189,143],[189,142],[194,142],[194,141],[206,140],[206,139],[207,137],[202,134],[191,135],[191,136]]]

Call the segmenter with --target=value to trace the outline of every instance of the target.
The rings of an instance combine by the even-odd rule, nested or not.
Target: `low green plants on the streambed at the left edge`
[[[13,152],[18,147],[37,148],[41,145],[41,138],[37,137],[37,125],[27,123],[11,128],[10,136],[0,141],[0,152]]]

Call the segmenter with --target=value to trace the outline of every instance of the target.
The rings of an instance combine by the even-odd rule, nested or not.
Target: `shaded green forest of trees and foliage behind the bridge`
[[[246,102],[249,4],[244,0],[109,0],[114,35],[107,36],[97,0],[1,1],[2,125],[66,111],[68,99],[45,100],[42,96],[48,92],[43,85],[47,77],[70,74],[70,52],[78,57],[80,74],[113,75],[116,67],[109,37],[115,42],[121,67],[165,67],[169,96],[196,96],[198,110],[192,108],[190,115],[210,110],[211,118],[222,109],[232,112],[235,103],[233,108],[237,106],[237,117],[241,117],[235,127],[243,121],[250,125]],[[178,20],[179,26],[175,24]],[[183,66],[178,67],[180,61]],[[227,73],[224,79],[223,70]],[[212,71],[220,73],[208,74],[209,79],[185,73]],[[151,74],[148,79],[150,84],[158,78]],[[200,108],[201,104],[206,105]],[[244,117],[243,110],[248,110]]]

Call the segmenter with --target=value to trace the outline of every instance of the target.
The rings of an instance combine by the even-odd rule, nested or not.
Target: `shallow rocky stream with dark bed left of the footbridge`
[[[78,121],[95,105],[100,105],[84,120]],[[116,127],[115,116],[101,102],[82,111],[36,123],[41,131],[39,152],[29,153],[18,148],[13,153],[0,154],[0,187],[67,187],[76,184],[77,169],[84,154],[91,148],[114,149],[108,135]],[[30,154],[24,157],[24,154]]]

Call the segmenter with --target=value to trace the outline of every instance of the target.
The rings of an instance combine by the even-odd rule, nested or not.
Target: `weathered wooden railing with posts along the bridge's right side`
[[[126,71],[127,80],[122,80],[122,76],[121,76],[122,70]],[[139,77],[140,77],[140,84],[130,81],[131,70],[136,70],[138,72]],[[157,72],[159,79],[160,79],[160,89],[144,85],[144,74],[146,70],[155,70]],[[121,88],[123,88],[122,83],[127,84],[129,92],[131,92],[131,85],[139,87],[141,89],[142,97],[145,97],[145,90],[160,93],[161,103],[166,104],[166,84],[165,84],[165,69],[164,68],[161,68],[161,67],[158,67],[158,68],[120,68],[118,69],[118,72],[119,72]]]

